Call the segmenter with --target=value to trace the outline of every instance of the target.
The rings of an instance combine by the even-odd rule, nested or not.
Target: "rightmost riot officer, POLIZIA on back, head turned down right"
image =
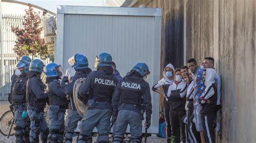
[[[143,111],[146,111],[146,128],[151,125],[152,104],[149,83],[150,71],[146,63],[138,62],[118,84],[112,98],[113,142],[122,142],[127,125],[130,125],[132,142],[142,142]]]

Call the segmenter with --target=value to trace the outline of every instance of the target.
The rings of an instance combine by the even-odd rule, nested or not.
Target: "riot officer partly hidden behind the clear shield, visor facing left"
[[[69,64],[75,68],[76,73],[73,77],[68,80],[67,76],[64,76],[62,82],[60,83],[62,90],[66,95],[70,95],[70,105],[68,110],[68,116],[65,120],[65,142],[72,142],[73,133],[77,128],[77,123],[82,119],[77,112],[76,106],[72,101],[73,96],[73,88],[75,82],[79,78],[86,78],[89,73],[91,73],[91,69],[88,67],[88,60],[83,54],[75,54],[69,59]]]

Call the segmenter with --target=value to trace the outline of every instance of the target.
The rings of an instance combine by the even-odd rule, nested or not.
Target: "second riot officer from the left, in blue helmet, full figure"
[[[35,59],[30,63],[28,82],[26,84],[26,103],[30,124],[30,142],[38,142],[39,133],[41,142],[46,142],[49,128],[44,117],[44,108],[48,101],[48,94],[44,92],[44,83],[40,76],[43,72],[44,63]]]

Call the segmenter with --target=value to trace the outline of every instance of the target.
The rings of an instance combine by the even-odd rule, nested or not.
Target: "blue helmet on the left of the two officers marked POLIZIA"
[[[98,67],[112,67],[112,56],[107,52],[99,53],[95,59],[96,68]]]

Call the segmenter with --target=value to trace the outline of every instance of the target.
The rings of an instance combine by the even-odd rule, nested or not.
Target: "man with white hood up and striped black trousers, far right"
[[[214,69],[204,69],[203,81],[206,88],[199,98],[199,103],[202,106],[200,115],[206,142],[215,142],[213,121],[218,99],[217,87],[214,80],[215,76],[216,71]]]

